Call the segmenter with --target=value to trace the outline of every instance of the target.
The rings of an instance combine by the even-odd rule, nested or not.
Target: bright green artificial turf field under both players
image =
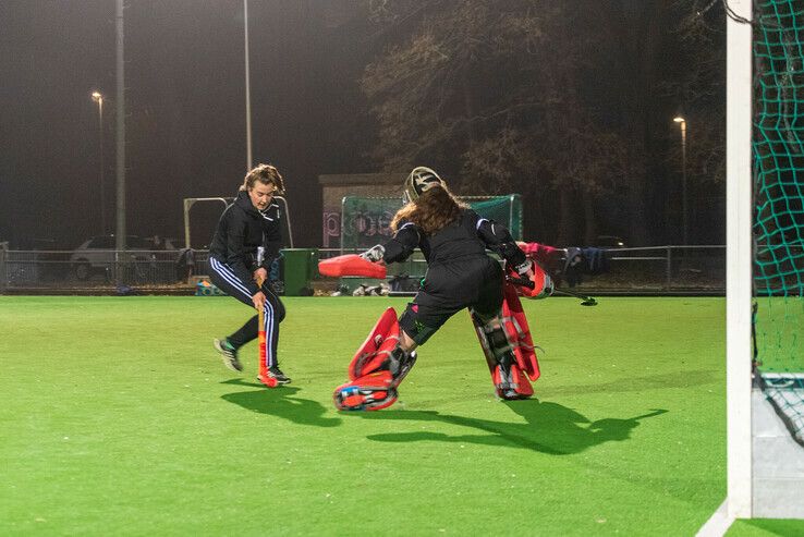
[[[400,401],[333,388],[404,300],[285,298],[290,387],[233,375],[227,297],[0,296],[0,535],[694,535],[726,495],[722,298],[527,302],[537,399],[501,402],[468,315]]]

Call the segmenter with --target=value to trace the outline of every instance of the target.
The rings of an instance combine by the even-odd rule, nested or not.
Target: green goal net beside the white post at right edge
[[[758,368],[804,434],[804,4],[755,2],[754,236]]]

